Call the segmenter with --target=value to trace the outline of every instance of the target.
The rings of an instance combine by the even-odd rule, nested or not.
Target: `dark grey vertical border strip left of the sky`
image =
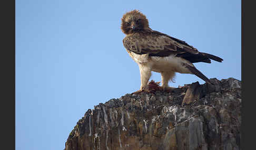
[[[1,149],[15,149],[15,0],[0,6]]]

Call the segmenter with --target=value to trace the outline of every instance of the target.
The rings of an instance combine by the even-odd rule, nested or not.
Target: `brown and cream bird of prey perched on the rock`
[[[151,71],[160,72],[162,89],[172,90],[168,82],[175,72],[195,74],[205,82],[211,81],[193,65],[195,62],[222,62],[223,59],[209,53],[199,52],[185,41],[152,30],[149,21],[139,10],[127,12],[122,17],[121,29],[126,37],[123,45],[132,59],[139,65],[141,92],[151,77]]]

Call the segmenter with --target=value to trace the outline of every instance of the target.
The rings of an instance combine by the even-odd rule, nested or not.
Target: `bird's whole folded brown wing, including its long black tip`
[[[185,41],[160,33],[159,31],[139,31],[135,34],[128,35],[123,39],[123,45],[126,50],[133,51],[137,54],[149,53],[149,56],[165,57],[176,54],[176,57],[182,57],[190,62],[207,62],[210,59],[221,62],[223,59],[199,52],[193,46],[188,45]]]

